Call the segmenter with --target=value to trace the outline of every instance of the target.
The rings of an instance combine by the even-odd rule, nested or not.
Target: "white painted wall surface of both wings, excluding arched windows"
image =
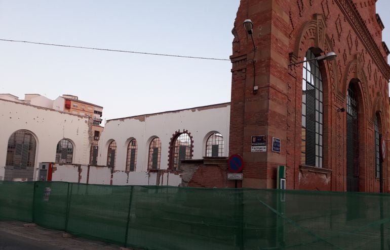
[[[20,100],[15,102],[0,99],[0,180],[4,180],[5,176],[8,140],[12,133],[22,129],[30,131],[36,140],[34,180],[38,179],[39,163],[55,162],[56,146],[63,138],[73,143],[73,164],[54,164],[53,181],[178,186],[181,176],[167,171],[169,144],[176,132],[184,130],[190,134],[193,141],[191,159],[202,159],[206,156],[206,141],[213,133],[223,136],[222,156],[228,156],[229,103],[109,120],[99,139],[98,166],[89,166],[93,141],[90,136],[93,135],[88,117],[42,108],[45,105],[50,106],[44,96],[27,97],[29,102],[33,99],[39,101],[41,107],[27,105]],[[63,99],[59,98],[63,97],[52,101],[53,106],[56,102],[63,103]],[[161,140],[160,169],[148,171],[149,144],[155,137]],[[127,148],[133,138],[137,140],[136,168],[134,172],[125,172]],[[112,140],[116,141],[118,147],[113,171],[106,166],[107,149]]]

